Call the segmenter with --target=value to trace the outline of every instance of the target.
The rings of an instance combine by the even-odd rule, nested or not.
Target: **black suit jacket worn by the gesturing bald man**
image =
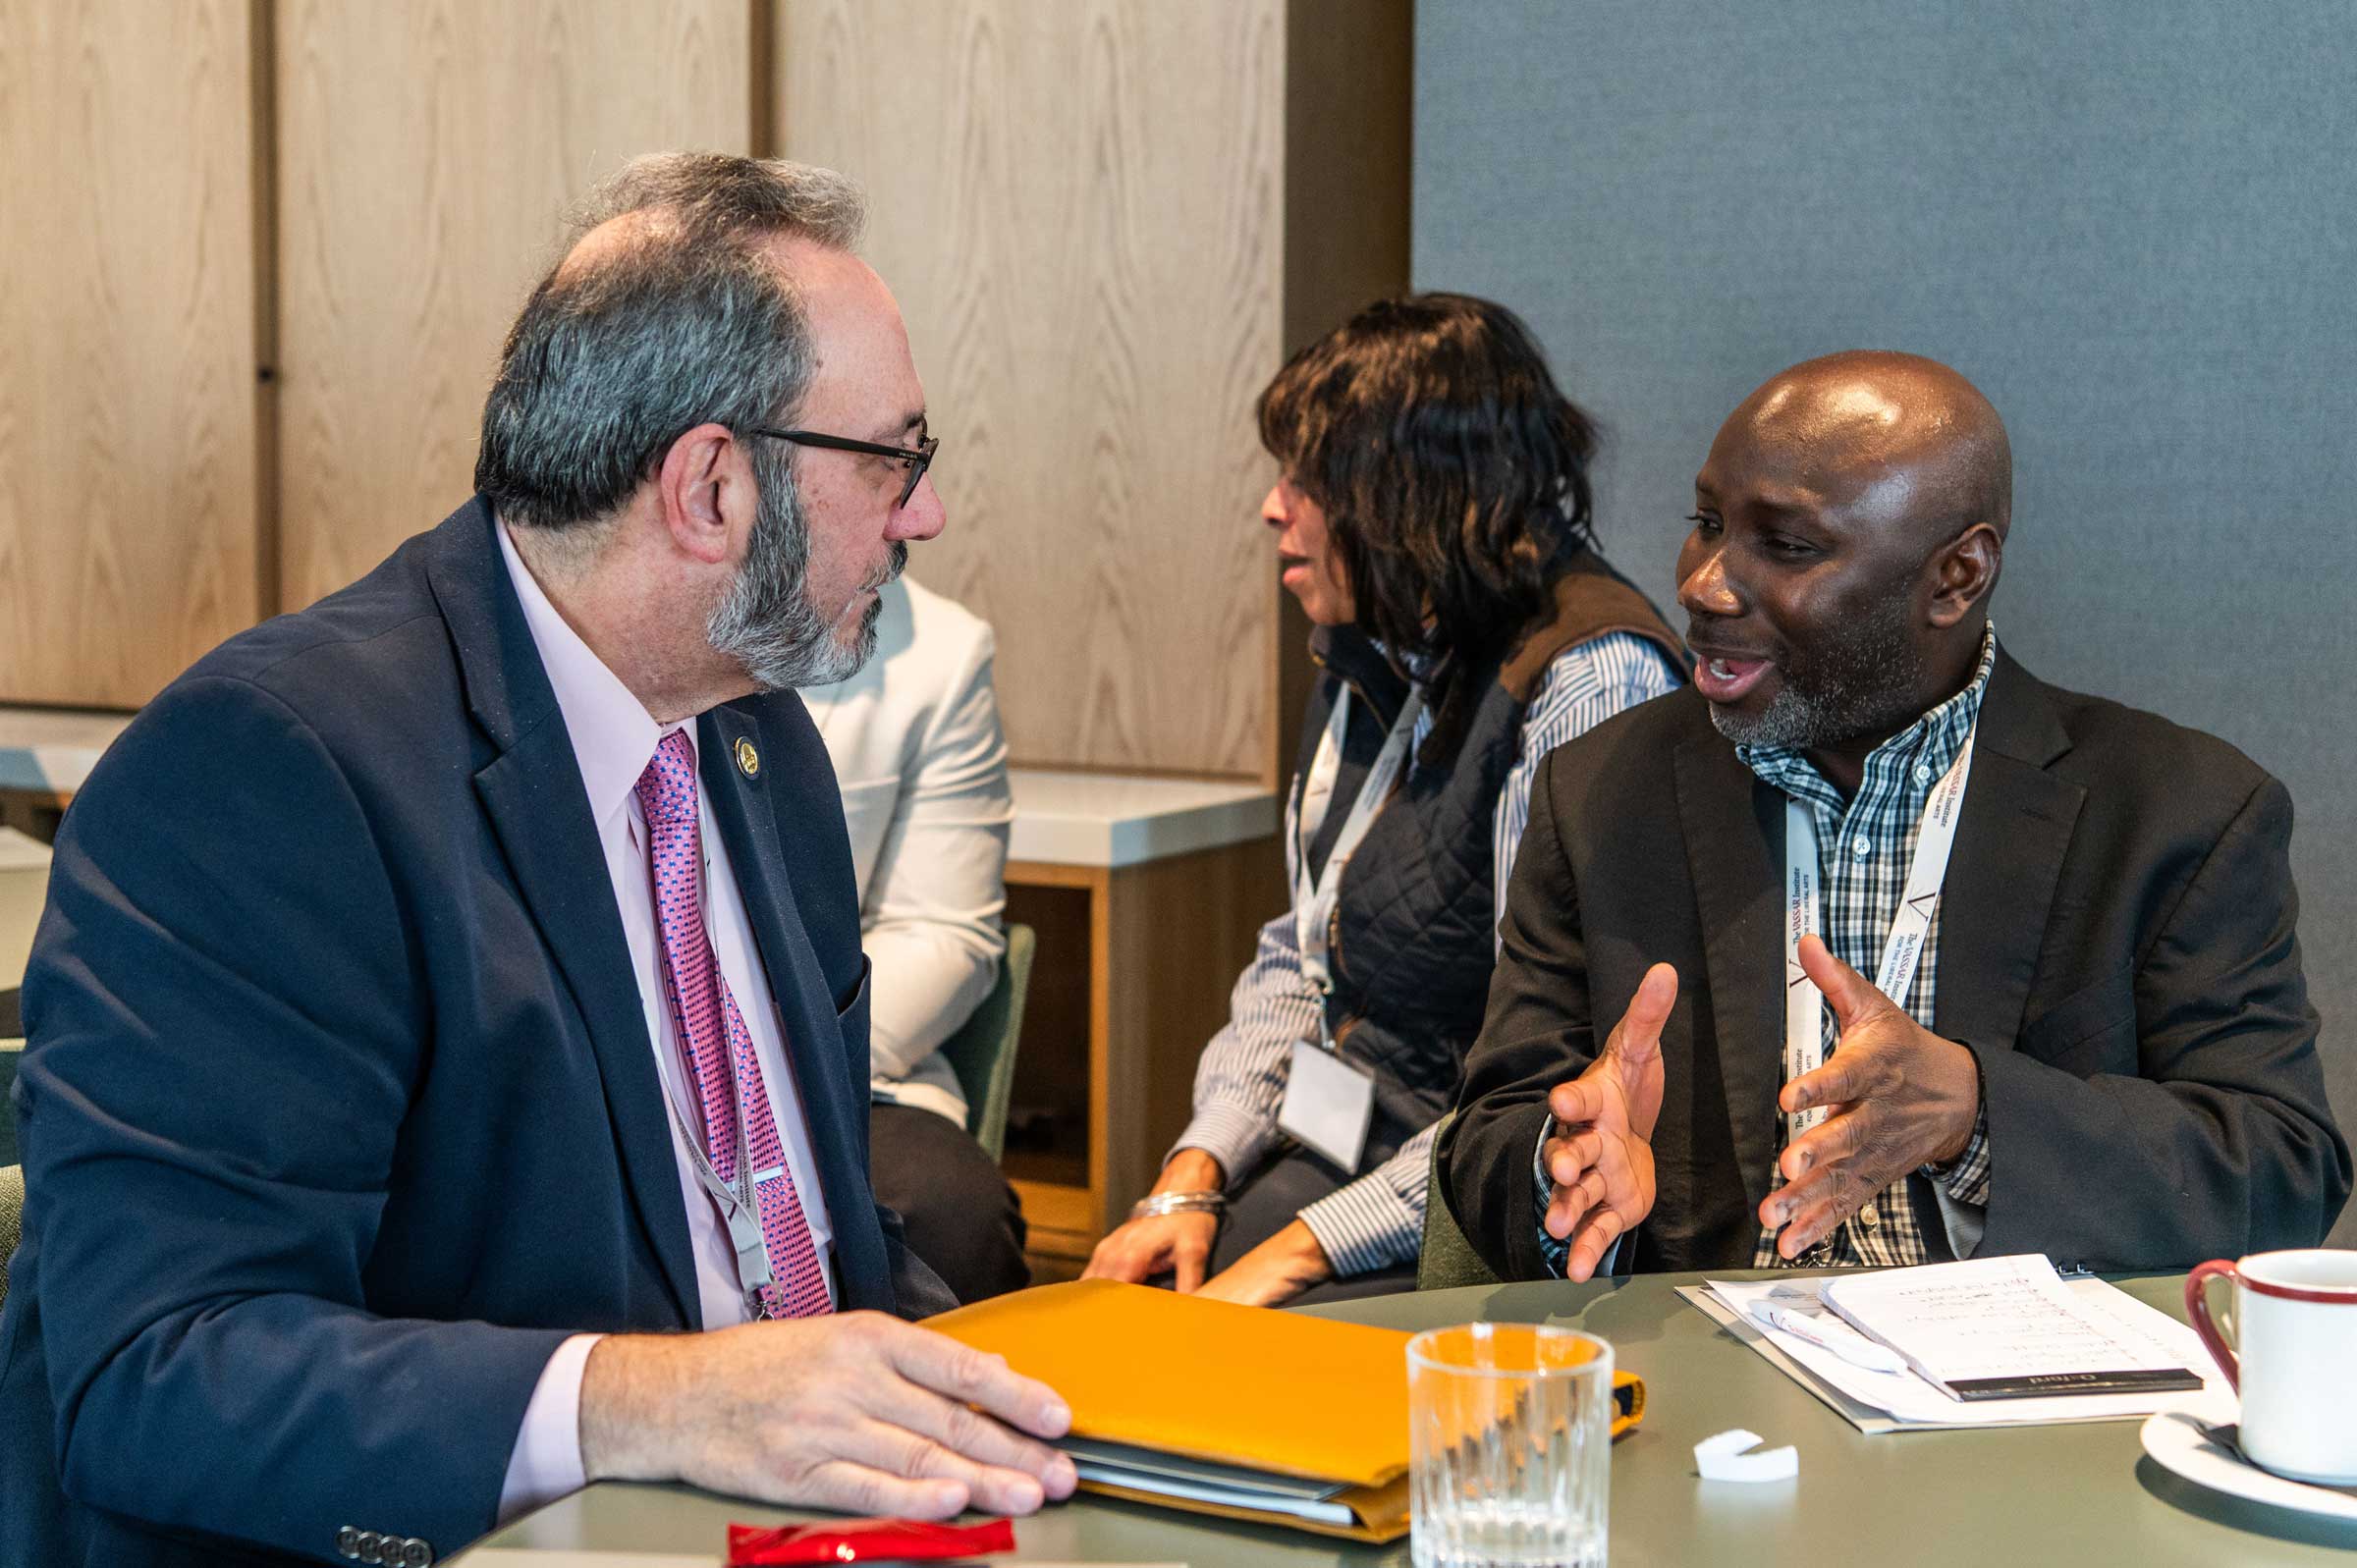
[[[1989,674],[1940,905],[1937,1033],[1980,1061],[1982,1257],[2187,1269],[2310,1247],[2350,1193],[2293,934],[2291,797],[2234,747]],[[1657,1198],[1633,1259],[1744,1269],[1775,1160],[1782,797],[1678,691],[1556,750],[1440,1188],[1506,1278],[1541,1278],[1532,1153],[1645,969],[1662,1030]],[[1921,1181],[1921,1177],[1916,1177]],[[1947,1257],[1923,1195],[1926,1247]]]

